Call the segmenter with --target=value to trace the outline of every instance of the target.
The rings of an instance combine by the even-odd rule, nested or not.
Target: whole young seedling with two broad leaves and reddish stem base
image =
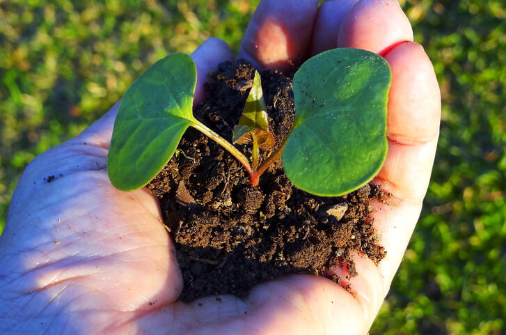
[[[388,150],[386,105],[388,63],[371,52],[340,48],[318,54],[294,75],[295,120],[290,135],[264,162],[259,150],[274,145],[262,97],[260,75],[253,86],[234,143],[251,143],[248,158],[192,114],[196,66],[186,54],[157,61],[128,89],[118,109],[108,156],[109,178],[125,191],[146,185],[194,127],[234,155],[252,185],[282,157],[292,183],[319,196],[338,196],[370,181]]]

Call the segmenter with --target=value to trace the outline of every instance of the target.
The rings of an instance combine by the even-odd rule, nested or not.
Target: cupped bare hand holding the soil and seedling
[[[19,181],[0,237],[1,334],[366,334],[420,214],[441,106],[432,65],[397,1],[356,2],[317,9],[316,0],[264,0],[239,55],[288,69],[324,49],[358,47],[390,63],[390,146],[374,180],[395,200],[374,204],[388,254],[379,266],[356,255],[354,294],[299,274],[263,283],[246,299],[177,302],[182,278],[156,199],[145,189],[119,192],[104,170],[116,105],[35,158]],[[233,57],[215,38],[192,57],[199,100],[206,73]]]

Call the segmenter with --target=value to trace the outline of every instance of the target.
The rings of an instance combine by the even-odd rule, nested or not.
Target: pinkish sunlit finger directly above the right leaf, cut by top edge
[[[406,40],[413,40],[413,30],[396,0],[358,1],[342,20],[338,33],[338,47],[377,54]]]

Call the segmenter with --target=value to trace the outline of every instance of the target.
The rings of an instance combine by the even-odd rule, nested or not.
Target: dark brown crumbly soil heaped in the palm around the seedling
[[[269,129],[282,143],[294,120],[292,74],[260,75]],[[246,61],[219,65],[209,75],[196,118],[231,141],[253,76]],[[251,157],[250,147],[237,147]],[[193,128],[148,188],[160,199],[175,241],[184,302],[206,295],[244,297],[256,284],[292,273],[322,275],[345,286],[329,270],[346,267],[355,276],[351,254],[361,252],[374,263],[386,254],[370,219],[370,201],[388,198],[379,187],[313,196],[292,185],[280,160],[252,187],[237,159]]]

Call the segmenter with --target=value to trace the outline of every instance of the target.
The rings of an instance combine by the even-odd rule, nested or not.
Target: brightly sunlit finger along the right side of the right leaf
[[[379,270],[390,283],[420,215],[436,153],[441,95],[432,64],[413,42],[394,47],[388,101],[388,155],[375,182],[398,201],[376,204],[374,226],[387,251]]]

